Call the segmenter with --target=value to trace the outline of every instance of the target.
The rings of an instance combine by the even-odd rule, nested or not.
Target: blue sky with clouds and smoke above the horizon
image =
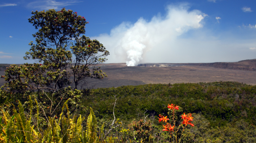
[[[0,64],[24,60],[31,11],[73,10],[84,16],[87,37],[110,55],[106,63],[213,63],[256,58],[256,1],[246,0],[2,0]]]

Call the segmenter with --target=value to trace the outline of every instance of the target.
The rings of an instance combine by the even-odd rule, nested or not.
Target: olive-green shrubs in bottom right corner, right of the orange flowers
[[[186,129],[182,142],[255,142],[256,126],[244,120],[223,127],[209,128],[209,122],[195,115],[195,127]]]

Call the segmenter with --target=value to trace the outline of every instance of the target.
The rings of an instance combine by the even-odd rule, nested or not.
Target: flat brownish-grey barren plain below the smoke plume
[[[249,61],[249,65],[255,66],[256,60]],[[239,62],[236,62],[239,63]],[[248,63],[248,62],[247,62]],[[148,83],[198,83],[214,81],[238,81],[246,84],[256,85],[256,71],[248,68],[244,69],[228,64],[142,64],[136,67],[127,67],[125,63],[101,64],[102,71],[108,77],[103,79],[87,79],[87,87],[83,88],[110,88],[122,85],[140,85]],[[155,66],[154,66],[155,65]],[[171,65],[171,66],[170,66]],[[216,66],[217,65],[217,66]],[[218,65],[222,65],[218,67]],[[226,68],[225,68],[226,67]],[[232,69],[233,68],[233,69]],[[4,75],[4,71],[0,71]],[[0,85],[4,84],[4,79],[0,78]]]

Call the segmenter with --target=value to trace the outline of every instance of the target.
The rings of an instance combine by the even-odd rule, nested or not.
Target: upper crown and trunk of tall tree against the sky
[[[76,12],[63,8],[61,11],[55,10],[32,12],[34,14],[29,22],[33,23],[39,31],[33,36],[36,37],[36,44],[30,43],[30,52],[26,53],[25,59],[35,59],[43,62],[48,66],[48,70],[56,72],[63,71],[67,68],[72,69],[74,76],[74,89],[84,78],[103,78],[100,68],[93,68],[93,72],[89,66],[103,63],[106,61],[104,56],[109,55],[109,51],[103,47],[97,40],[90,40],[82,36],[85,33],[85,25],[89,22],[86,18],[78,16]],[[73,44],[74,42],[74,44]],[[67,46],[71,46],[71,51],[67,50]],[[75,58],[72,59],[72,54]],[[71,62],[73,60],[73,63]],[[69,65],[69,66],[68,66]],[[56,76],[58,88],[63,88],[70,84],[69,73],[62,72],[61,78]]]

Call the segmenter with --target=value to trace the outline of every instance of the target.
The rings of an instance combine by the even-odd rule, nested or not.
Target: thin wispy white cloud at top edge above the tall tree
[[[44,0],[29,3],[28,7],[40,10],[61,9],[62,7],[69,6],[75,3],[79,3],[79,1],[56,2],[55,0]]]

